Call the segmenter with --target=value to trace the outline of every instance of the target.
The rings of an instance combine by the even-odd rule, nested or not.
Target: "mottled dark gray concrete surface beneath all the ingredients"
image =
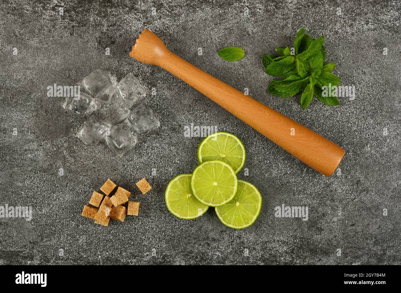
[[[31,221],[0,218],[0,264],[400,264],[400,12],[397,1],[2,1],[0,205],[33,211]],[[342,146],[341,171],[318,174],[168,72],[131,59],[145,27],[177,55]],[[302,111],[299,96],[266,92],[273,78],[261,55],[291,46],[301,27],[326,36],[327,62],[356,87],[355,100],[313,100]],[[229,45],[246,57],[221,60],[216,51]],[[138,76],[143,102],[161,121],[123,159],[104,141],[77,139],[83,120],[46,96],[47,86],[76,84],[99,67],[117,80]],[[227,228],[213,208],[190,221],[166,209],[169,180],[197,165],[201,138],[183,135],[190,123],[216,125],[245,144],[249,176],[239,178],[263,196],[251,227]],[[142,177],[153,186],[146,195],[135,186]],[[139,217],[109,227],[81,217],[107,178],[132,191]],[[276,218],[282,204],[308,206],[308,221]]]

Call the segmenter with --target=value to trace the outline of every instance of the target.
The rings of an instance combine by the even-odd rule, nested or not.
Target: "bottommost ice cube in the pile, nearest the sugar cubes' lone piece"
[[[117,156],[125,156],[134,148],[137,139],[125,123],[120,123],[110,128],[106,142]]]

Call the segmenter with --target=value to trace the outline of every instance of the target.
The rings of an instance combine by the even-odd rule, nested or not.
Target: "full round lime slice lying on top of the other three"
[[[238,180],[233,168],[222,161],[206,161],[192,173],[193,195],[205,205],[217,207],[231,201],[237,192]]]

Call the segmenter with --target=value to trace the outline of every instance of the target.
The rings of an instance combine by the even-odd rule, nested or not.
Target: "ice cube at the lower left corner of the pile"
[[[97,145],[108,129],[107,123],[99,115],[92,114],[79,129],[77,136],[90,145]]]

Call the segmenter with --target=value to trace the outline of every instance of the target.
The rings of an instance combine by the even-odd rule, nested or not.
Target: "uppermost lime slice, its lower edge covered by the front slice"
[[[198,148],[199,163],[211,160],[229,164],[237,174],[245,164],[244,145],[231,133],[213,133],[205,137]]]

